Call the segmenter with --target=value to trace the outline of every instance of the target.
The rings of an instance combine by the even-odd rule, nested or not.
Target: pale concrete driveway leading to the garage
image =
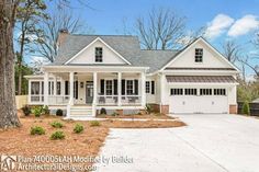
[[[259,172],[259,119],[179,115],[181,128],[112,129],[99,172]],[[104,162],[104,161],[103,161]]]

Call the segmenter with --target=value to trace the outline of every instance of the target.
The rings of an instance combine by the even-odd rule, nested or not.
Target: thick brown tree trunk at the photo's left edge
[[[0,128],[20,126],[14,91],[13,26],[16,2],[0,0]]]

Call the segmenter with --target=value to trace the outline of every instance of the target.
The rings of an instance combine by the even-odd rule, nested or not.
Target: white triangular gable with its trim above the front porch
[[[95,47],[102,47],[102,62],[95,62]],[[76,56],[74,56],[66,64],[74,65],[94,65],[94,64],[110,64],[110,65],[126,65],[128,64],[123,57],[113,50],[108,44],[105,44],[102,39],[97,38],[87,47],[85,47],[81,51],[79,51]]]

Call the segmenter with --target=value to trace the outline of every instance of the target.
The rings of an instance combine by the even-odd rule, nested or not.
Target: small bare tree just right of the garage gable
[[[228,61],[235,62],[239,56],[240,47],[234,41],[226,41],[223,45],[223,54]]]

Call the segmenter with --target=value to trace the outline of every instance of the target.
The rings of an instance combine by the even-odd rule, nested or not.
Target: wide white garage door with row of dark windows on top
[[[226,89],[171,89],[170,113],[227,113]]]

